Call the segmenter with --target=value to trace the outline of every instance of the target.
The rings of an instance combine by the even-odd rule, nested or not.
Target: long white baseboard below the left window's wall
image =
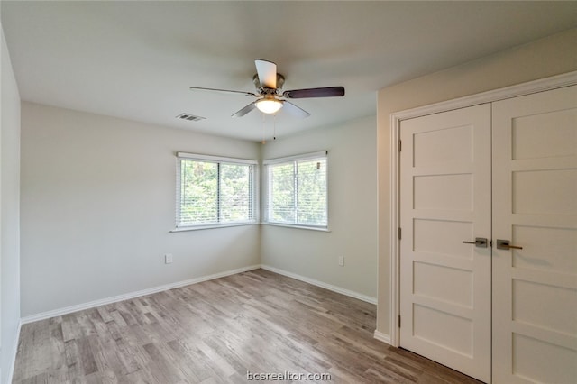
[[[60,315],[67,315],[73,312],[82,311],[88,308],[94,308],[95,306],[104,306],[106,304],[116,303],[118,301],[128,300],[134,297],[141,297],[146,295],[151,295],[153,293],[161,292],[164,290],[169,290],[173,288],[179,288],[184,286],[189,286],[190,284],[200,283],[202,281],[213,280],[213,279],[220,279],[226,276],[235,275],[237,273],[246,272],[247,270],[258,270],[261,268],[260,265],[251,265],[249,267],[243,267],[236,270],[225,270],[224,272],[215,273],[213,275],[202,276],[200,278],[195,279],[188,279],[184,281],[178,281],[176,283],[165,284],[159,287],[147,288],[142,289],[135,292],[126,293],[124,295],[118,295],[113,297],[106,297],[101,298],[98,300],[90,301],[88,303],[78,304],[76,306],[66,306],[64,308],[54,309],[48,312],[42,312],[36,315],[29,315],[25,316],[21,319],[22,324],[33,323],[39,320],[45,320],[50,317],[60,316]]]

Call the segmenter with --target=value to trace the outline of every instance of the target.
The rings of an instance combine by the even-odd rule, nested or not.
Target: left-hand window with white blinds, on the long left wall
[[[256,223],[257,162],[177,153],[177,228]]]

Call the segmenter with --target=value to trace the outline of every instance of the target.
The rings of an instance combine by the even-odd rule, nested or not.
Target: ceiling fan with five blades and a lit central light
[[[285,78],[277,72],[277,65],[275,63],[256,59],[254,60],[254,64],[256,65],[257,73],[252,78],[252,82],[254,83],[254,87],[256,87],[256,93],[204,87],[190,87],[190,89],[228,92],[257,97],[257,100],[233,114],[233,117],[243,117],[243,115],[248,114],[254,108],[259,109],[263,114],[276,114],[280,108],[284,108],[290,114],[298,117],[308,117],[310,114],[307,111],[290,103],[286,99],[344,96],[344,87],[322,87],[282,91],[281,89]]]

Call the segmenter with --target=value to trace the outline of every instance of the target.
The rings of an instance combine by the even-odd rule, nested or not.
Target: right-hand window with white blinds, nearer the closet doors
[[[264,162],[268,181],[265,220],[327,227],[326,151]]]

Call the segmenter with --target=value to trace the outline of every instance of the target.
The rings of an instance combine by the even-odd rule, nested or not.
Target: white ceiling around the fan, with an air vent
[[[260,141],[254,59],[284,89],[343,86],[340,98],[294,100],[277,135],[375,114],[376,91],[577,26],[577,2],[24,2],[2,1],[23,100]],[[206,117],[200,122],[180,113]],[[265,120],[269,138],[274,119]]]

